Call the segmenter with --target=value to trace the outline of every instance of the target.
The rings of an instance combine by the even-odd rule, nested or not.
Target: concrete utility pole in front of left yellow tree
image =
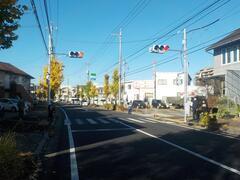
[[[50,80],[51,80],[51,60],[52,60],[52,54],[53,54],[53,45],[52,45],[52,31],[53,27],[50,26],[50,32],[48,34],[48,73],[47,73],[47,83],[48,83],[48,105],[51,105],[51,86],[50,86]]]

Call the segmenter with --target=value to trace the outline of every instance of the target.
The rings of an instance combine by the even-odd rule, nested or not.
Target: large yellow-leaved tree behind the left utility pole
[[[58,92],[58,89],[63,82],[63,64],[58,61],[55,57],[51,60],[51,78],[50,78],[50,89],[51,89],[51,98],[54,98],[55,94]],[[40,87],[43,89],[45,96],[47,97],[47,73],[48,66],[43,68],[43,79],[40,82]]]

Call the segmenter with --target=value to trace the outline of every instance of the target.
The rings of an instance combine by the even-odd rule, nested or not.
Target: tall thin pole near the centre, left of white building
[[[122,96],[122,89],[121,89],[121,80],[122,80],[122,29],[120,28],[119,32],[119,89],[118,89],[118,104],[121,104],[121,96]]]

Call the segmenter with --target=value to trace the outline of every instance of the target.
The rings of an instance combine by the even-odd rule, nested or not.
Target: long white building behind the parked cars
[[[183,97],[184,74],[182,72],[157,72],[156,73],[156,99],[166,100],[167,97]],[[202,89],[190,85],[189,77],[188,95],[201,95]],[[133,80],[125,83],[124,101],[145,100],[154,98],[154,80]]]

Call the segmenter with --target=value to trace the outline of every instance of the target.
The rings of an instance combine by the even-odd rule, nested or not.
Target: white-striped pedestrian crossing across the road
[[[120,123],[121,121],[127,121],[130,123],[159,123],[157,120],[152,118],[113,118],[113,117],[96,117],[96,118],[76,118],[74,119],[75,123],[78,125],[99,125],[99,124],[113,124]]]

